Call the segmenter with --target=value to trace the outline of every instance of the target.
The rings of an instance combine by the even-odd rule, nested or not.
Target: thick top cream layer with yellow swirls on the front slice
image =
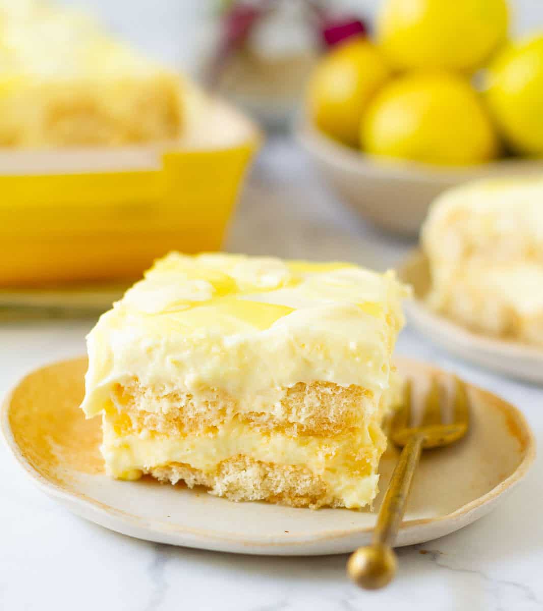
[[[392,272],[347,263],[172,253],[87,337],[87,416],[112,387],[213,388],[239,411],[271,411],[297,382],[388,388],[406,289]]]

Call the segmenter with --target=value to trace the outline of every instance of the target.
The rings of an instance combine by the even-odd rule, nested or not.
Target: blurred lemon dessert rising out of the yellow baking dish
[[[180,79],[95,21],[0,0],[0,146],[164,141],[181,131]]]

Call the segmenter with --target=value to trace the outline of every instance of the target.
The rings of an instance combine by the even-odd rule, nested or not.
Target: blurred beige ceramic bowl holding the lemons
[[[375,225],[393,233],[417,235],[432,200],[468,180],[504,174],[539,173],[543,159],[506,158],[477,166],[430,166],[376,158],[339,144],[301,116],[297,140],[341,199]]]

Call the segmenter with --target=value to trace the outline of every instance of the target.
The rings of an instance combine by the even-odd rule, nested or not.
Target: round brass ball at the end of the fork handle
[[[365,590],[379,590],[392,581],[397,565],[392,547],[378,544],[360,547],[351,554],[347,572]]]

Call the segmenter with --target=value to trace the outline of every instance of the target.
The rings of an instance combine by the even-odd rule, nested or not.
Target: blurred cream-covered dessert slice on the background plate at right
[[[423,225],[428,304],[475,331],[543,347],[543,180],[470,183]]]

